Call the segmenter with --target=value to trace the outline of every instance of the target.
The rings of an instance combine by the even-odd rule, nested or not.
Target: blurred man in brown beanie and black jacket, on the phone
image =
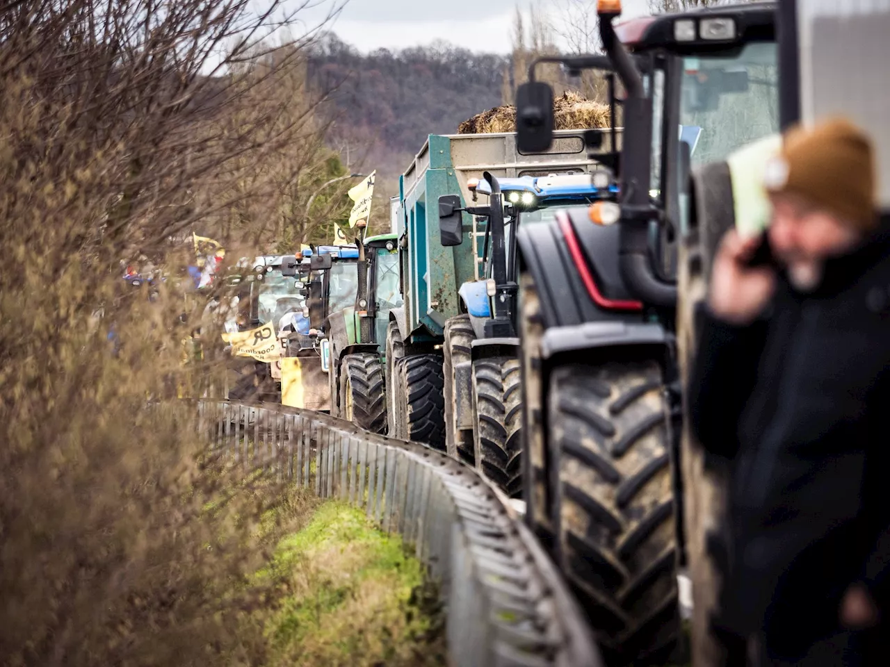
[[[740,664],[890,664],[871,643],[890,569],[890,232],[870,141],[843,120],[793,130],[766,174],[771,224],[724,238],[689,395],[730,485],[715,631]]]

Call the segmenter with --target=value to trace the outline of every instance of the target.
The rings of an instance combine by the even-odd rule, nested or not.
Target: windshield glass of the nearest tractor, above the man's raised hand
[[[732,56],[684,58],[680,125],[701,128],[692,164],[723,160],[779,130],[777,48],[746,44]]]

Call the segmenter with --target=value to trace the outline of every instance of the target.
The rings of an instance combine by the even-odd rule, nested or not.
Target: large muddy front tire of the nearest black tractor
[[[663,664],[679,638],[665,404],[655,360],[550,375],[556,559],[611,665]]]

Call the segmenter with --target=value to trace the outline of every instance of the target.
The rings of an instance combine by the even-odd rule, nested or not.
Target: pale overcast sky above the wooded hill
[[[311,2],[315,6],[300,16],[309,22],[322,20],[329,0]],[[525,1],[518,4],[528,7]],[[444,39],[472,51],[506,53],[516,5],[516,0],[350,0],[331,28],[360,52]],[[624,0],[624,16],[648,13],[647,6],[647,0]]]

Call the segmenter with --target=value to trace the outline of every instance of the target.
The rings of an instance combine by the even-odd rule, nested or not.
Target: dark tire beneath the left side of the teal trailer
[[[395,369],[397,437],[445,450],[442,358],[418,354],[402,358]]]

